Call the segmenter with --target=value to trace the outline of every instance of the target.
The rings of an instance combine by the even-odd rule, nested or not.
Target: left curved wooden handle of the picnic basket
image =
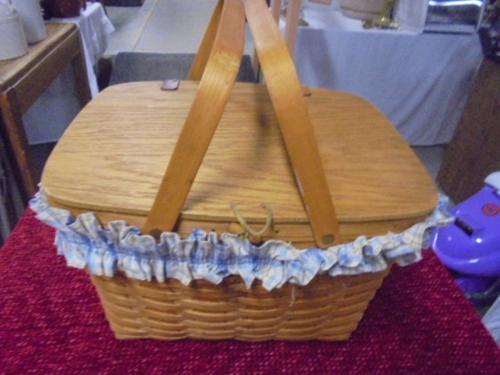
[[[215,37],[208,35],[219,19]],[[203,76],[143,228],[143,233],[155,237],[175,228],[234,86],[245,46],[245,9],[240,0],[220,0],[202,46],[212,46],[210,54],[206,58],[207,51],[200,51],[190,78]]]

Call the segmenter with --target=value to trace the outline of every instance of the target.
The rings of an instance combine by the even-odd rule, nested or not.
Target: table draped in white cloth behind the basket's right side
[[[365,30],[307,6],[304,18],[295,47],[304,85],[365,97],[412,146],[451,141],[483,60],[477,35]]]

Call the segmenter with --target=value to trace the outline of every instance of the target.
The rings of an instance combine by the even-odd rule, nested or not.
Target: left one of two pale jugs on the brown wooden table
[[[21,19],[10,0],[0,0],[0,60],[28,53],[28,43]]]

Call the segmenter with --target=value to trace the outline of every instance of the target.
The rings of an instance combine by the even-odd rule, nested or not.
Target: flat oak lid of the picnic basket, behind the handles
[[[144,224],[197,89],[188,81],[173,92],[160,86],[111,86],[75,118],[42,177],[55,206],[106,213],[104,223],[126,217]],[[370,228],[358,235],[385,234],[425,218],[437,202],[435,184],[386,117],[358,96],[315,88],[311,93],[305,98],[341,234],[346,224]],[[235,221],[233,204],[249,223],[262,224],[262,203],[273,208],[275,232],[294,223],[307,231],[266,88],[236,83],[179,228],[188,231],[190,222],[226,228]]]

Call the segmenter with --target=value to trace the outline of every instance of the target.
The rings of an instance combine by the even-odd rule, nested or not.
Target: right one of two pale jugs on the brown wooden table
[[[44,16],[39,0],[11,0],[21,18],[28,44],[39,42],[47,36]]]

